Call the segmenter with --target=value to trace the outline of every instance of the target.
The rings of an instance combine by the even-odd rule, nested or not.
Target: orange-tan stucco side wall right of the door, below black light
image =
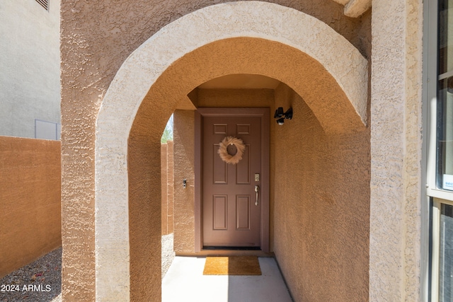
[[[275,105],[275,256],[295,301],[367,301],[369,129],[326,135],[285,84]],[[340,119],[338,119],[340,122]],[[320,286],[322,284],[322,286]]]

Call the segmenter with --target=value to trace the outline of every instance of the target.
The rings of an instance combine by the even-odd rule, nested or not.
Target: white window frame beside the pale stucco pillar
[[[420,290],[423,301],[437,302],[439,299],[439,252],[440,252],[440,209],[441,204],[453,205],[453,192],[437,187],[437,5],[438,0],[424,2],[423,28],[423,158],[425,165],[425,202],[422,204],[422,279]],[[453,72],[443,74],[447,76]],[[432,200],[432,205],[430,201]],[[431,211],[431,228],[430,228]],[[431,250],[429,243],[431,240]],[[430,268],[430,269],[429,269]],[[431,276],[429,276],[431,272]]]

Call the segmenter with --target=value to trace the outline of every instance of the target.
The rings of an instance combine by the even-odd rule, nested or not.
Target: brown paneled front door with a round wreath
[[[238,108],[237,115],[202,117],[202,243],[203,247],[261,245],[263,116]],[[268,134],[267,134],[268,135]],[[242,139],[242,160],[226,163],[217,153],[224,137]],[[229,154],[236,148],[229,146]],[[268,160],[266,158],[266,160]],[[256,188],[258,189],[258,202]],[[265,193],[267,194],[267,193]],[[266,197],[267,199],[267,197]]]

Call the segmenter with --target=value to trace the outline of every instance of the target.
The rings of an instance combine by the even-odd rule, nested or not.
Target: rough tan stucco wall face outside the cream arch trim
[[[226,1],[216,3],[220,2]],[[343,16],[343,7],[339,4],[333,1],[275,2],[319,18],[365,53],[362,20]],[[62,223],[65,247],[62,291],[68,300],[90,301],[95,294],[93,150],[96,116],[103,95],[122,62],[148,37],[176,18],[210,4],[210,1],[121,1],[108,6],[102,1],[91,4],[62,2]],[[155,118],[156,114],[149,117]],[[159,128],[157,124],[156,128]],[[151,139],[159,138],[152,134]],[[139,149],[146,147],[139,146]],[[159,154],[157,146],[149,147],[150,153]],[[142,155],[140,152],[137,156]],[[139,168],[139,163],[147,163],[147,160],[155,164],[153,158],[142,158],[134,165]],[[146,183],[153,185],[156,175],[149,177]],[[160,189],[152,189],[154,196],[158,192],[160,196]],[[140,217],[149,221],[155,219],[140,215],[136,218]],[[160,226],[160,222],[157,223]],[[154,233],[149,238],[153,236]],[[137,293],[131,289],[132,292]]]

